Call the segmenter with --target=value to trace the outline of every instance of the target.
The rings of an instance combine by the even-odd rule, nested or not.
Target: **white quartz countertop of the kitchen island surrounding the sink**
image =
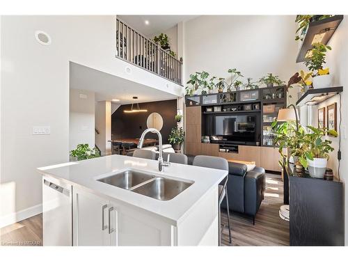
[[[142,171],[159,177],[193,181],[194,183],[175,198],[164,201],[97,181],[97,179],[127,169]],[[158,171],[158,162],[155,160],[121,155],[111,155],[96,159],[69,162],[67,164],[46,166],[38,168],[38,171],[42,175],[48,175],[72,185],[79,185],[99,195],[104,195],[111,199],[120,200],[122,203],[145,209],[164,217],[167,221],[173,223],[173,225],[180,222],[180,219],[189,212],[189,209],[209,189],[217,186],[228,175],[228,171],[173,163],[169,167],[164,167],[164,172],[161,173]]]

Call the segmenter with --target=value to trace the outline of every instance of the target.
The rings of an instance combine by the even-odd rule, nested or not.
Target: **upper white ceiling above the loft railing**
[[[150,37],[198,15],[118,15],[123,22]],[[145,24],[148,21],[148,24]]]

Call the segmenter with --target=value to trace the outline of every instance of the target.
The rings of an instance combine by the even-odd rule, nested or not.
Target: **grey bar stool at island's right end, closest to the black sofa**
[[[205,168],[217,168],[223,171],[228,171],[228,161],[221,157],[198,155],[193,159],[193,166],[200,166]],[[230,237],[230,244],[232,243],[231,228],[230,228],[230,208],[228,207],[228,193],[227,193],[227,181],[226,178],[219,184],[219,245],[221,245],[221,203],[226,198],[227,203],[227,220],[228,220],[228,235]]]

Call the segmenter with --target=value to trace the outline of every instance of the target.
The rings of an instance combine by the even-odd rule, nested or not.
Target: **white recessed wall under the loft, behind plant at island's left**
[[[95,93],[70,88],[69,150],[78,144],[95,146]]]

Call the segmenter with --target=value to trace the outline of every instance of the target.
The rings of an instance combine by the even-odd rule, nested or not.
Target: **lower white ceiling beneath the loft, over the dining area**
[[[107,74],[78,63],[70,63],[70,88],[95,92],[96,101],[118,99],[118,104],[132,103],[133,96],[139,102],[176,99],[170,93],[137,84],[112,74]]]

